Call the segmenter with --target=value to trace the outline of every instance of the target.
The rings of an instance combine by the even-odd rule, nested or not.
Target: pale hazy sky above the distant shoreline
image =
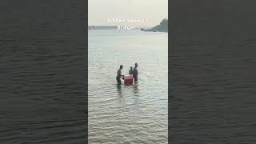
[[[89,26],[110,25],[108,18],[144,19],[143,26],[155,26],[168,18],[168,0],[89,0]]]

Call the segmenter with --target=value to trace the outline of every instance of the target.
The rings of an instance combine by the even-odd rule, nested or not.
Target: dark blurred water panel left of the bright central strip
[[[1,144],[87,142],[83,3],[1,1]]]

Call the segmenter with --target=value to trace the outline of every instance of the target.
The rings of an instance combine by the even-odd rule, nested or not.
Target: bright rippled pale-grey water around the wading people
[[[90,143],[167,143],[168,36],[140,30],[89,30]],[[138,62],[138,83],[117,86]]]

